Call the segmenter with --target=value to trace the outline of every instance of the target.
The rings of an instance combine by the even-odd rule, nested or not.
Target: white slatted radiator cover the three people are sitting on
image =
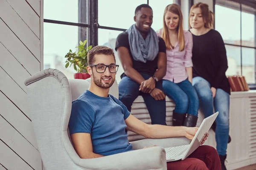
[[[175,103],[166,97],[166,124],[172,125],[172,111]],[[145,123],[151,119],[142,96],[133,103],[131,114]],[[204,119],[199,112],[197,126]],[[129,141],[144,139],[143,136],[128,131]],[[230,136],[227,146],[227,169],[233,170],[256,163],[256,90],[231,92],[230,95]],[[210,130],[207,145],[216,147],[215,133]]]

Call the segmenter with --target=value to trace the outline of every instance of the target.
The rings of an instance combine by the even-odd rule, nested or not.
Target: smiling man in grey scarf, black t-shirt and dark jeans
[[[124,68],[119,83],[119,100],[131,111],[142,95],[151,124],[166,125],[166,101],[162,78],[166,74],[166,45],[151,28],[153,11],[147,4],[135,10],[136,22],[116,39],[116,51]]]

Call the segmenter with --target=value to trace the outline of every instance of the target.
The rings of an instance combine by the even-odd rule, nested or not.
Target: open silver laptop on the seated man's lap
[[[203,120],[203,122],[198,128],[198,131],[195,133],[195,136],[190,142],[190,144],[165,148],[166,161],[169,162],[169,161],[184,160],[192,152],[194,152],[200,146],[200,143],[204,139],[206,133],[209,131],[210,127],[212,126],[217,116],[218,116],[218,112],[214,113],[213,115]]]

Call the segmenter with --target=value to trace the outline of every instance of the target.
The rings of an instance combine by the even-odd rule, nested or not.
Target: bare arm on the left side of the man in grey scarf
[[[132,60],[128,49],[126,47],[119,47],[116,51],[125,74],[138,84],[141,84],[145,79],[132,67]]]

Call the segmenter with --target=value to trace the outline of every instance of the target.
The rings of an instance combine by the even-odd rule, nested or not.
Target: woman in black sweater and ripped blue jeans
[[[212,14],[208,5],[197,3],[189,13],[190,32],[193,36],[192,83],[198,93],[200,108],[205,117],[219,112],[216,119],[217,151],[222,170],[226,170],[229,138],[230,85],[225,75],[227,55],[221,34],[212,28]]]

